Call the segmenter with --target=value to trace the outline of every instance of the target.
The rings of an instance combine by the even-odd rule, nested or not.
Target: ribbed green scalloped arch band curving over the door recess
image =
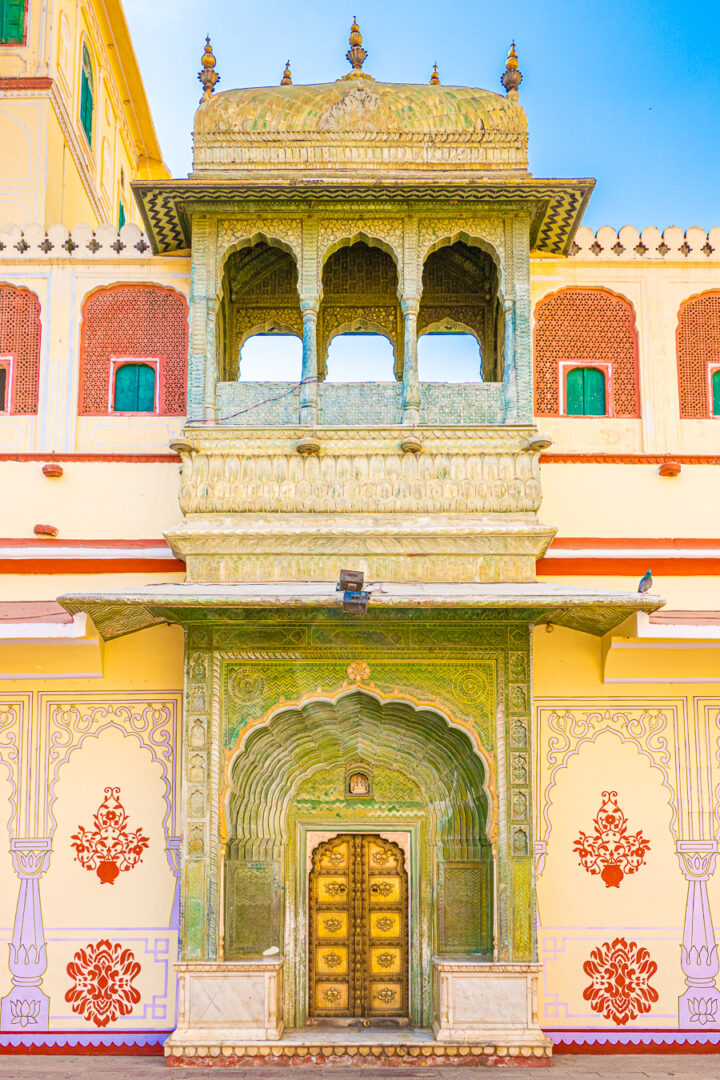
[[[493,843],[492,771],[477,735],[437,705],[357,687],[277,705],[241,735],[227,762],[226,839],[245,858],[277,850],[298,784],[318,766],[356,760],[416,779],[429,793],[437,839],[454,858]]]

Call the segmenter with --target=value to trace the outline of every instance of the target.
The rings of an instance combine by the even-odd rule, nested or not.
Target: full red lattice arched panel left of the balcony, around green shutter
[[[159,416],[185,416],[188,301],[162,285],[110,285],[85,297],[80,329],[80,416],[107,416],[112,360],[157,360]]]

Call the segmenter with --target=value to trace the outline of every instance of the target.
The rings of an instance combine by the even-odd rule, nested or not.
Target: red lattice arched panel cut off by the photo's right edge
[[[710,413],[710,365],[720,365],[720,291],[683,300],[676,332],[680,417],[703,419]]]

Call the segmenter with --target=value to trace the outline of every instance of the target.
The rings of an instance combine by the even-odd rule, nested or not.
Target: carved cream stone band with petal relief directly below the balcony
[[[186,430],[186,514],[534,514],[532,429]]]

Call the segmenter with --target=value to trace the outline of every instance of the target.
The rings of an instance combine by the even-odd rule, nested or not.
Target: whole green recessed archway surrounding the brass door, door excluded
[[[406,838],[413,1023],[430,1022],[433,955],[492,958],[487,765],[441,713],[362,690],[279,710],[230,778],[225,956],[281,949],[286,1024],[308,1015],[308,860],[329,831],[378,834],[381,821]]]

